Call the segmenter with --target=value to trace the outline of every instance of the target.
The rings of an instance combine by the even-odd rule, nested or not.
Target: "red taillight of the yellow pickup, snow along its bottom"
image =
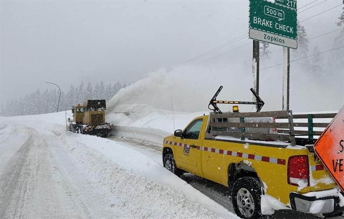
[[[309,186],[308,156],[292,156],[288,161],[288,184],[293,186]]]

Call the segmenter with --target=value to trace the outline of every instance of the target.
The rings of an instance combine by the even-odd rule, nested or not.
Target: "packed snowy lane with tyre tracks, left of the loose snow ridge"
[[[18,124],[0,133],[0,218],[126,217],[56,134]]]

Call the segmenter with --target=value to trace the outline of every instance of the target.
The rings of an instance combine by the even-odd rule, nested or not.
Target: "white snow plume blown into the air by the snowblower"
[[[117,105],[134,103],[170,111],[172,105],[173,110],[176,111],[208,111],[208,103],[220,85],[223,85],[224,89],[218,100],[250,100],[249,89],[252,86],[244,82],[249,81],[252,75],[228,71],[228,68],[224,70],[183,66],[167,73],[161,68],[149,73],[141,81],[119,90],[108,102],[108,111],[112,111]],[[238,90],[240,92],[237,92]],[[230,106],[219,107],[223,111],[231,108]]]

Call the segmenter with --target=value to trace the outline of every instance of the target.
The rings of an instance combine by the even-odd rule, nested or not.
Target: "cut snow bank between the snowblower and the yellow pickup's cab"
[[[184,129],[192,119],[209,112],[172,112],[145,104],[117,105],[106,111],[107,122],[115,126],[113,134],[151,141],[162,146],[164,137]]]

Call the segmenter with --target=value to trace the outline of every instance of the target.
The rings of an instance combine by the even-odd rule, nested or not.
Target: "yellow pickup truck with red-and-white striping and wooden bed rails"
[[[266,219],[280,209],[321,218],[343,215],[343,192],[313,148],[314,135],[336,113],[220,112],[199,116],[165,137],[168,170],[231,188],[234,211],[243,219]]]

